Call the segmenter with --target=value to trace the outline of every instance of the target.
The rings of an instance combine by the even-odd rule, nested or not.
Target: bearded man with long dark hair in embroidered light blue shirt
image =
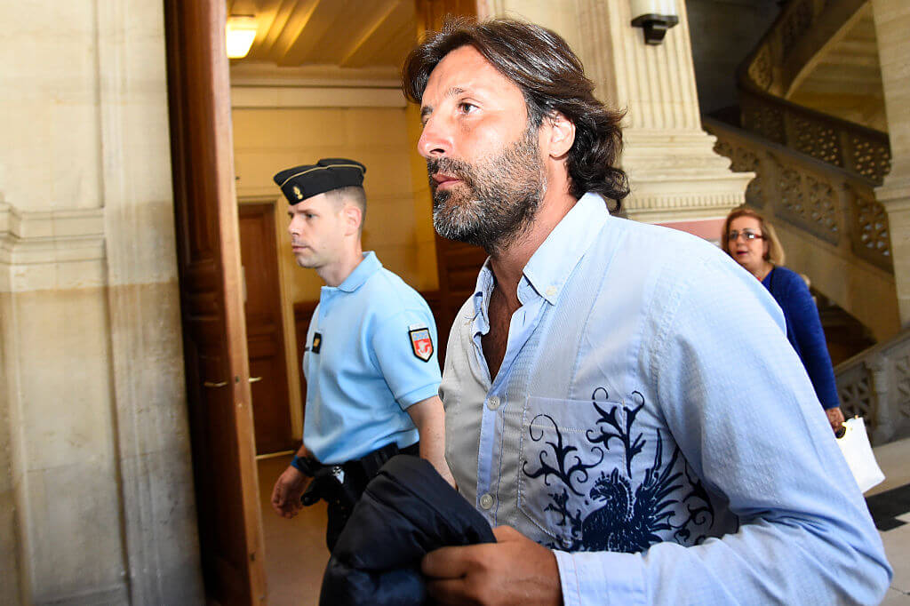
[[[441,603],[877,603],[890,568],[761,285],[612,217],[620,114],[558,35],[450,22],[408,57],[433,220],[490,255],[452,326],[446,458],[496,544]]]

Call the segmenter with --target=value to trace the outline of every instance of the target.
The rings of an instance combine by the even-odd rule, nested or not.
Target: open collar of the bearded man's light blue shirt
[[[581,261],[594,237],[601,231],[610,213],[603,198],[591,192],[582,196],[565,217],[553,228],[547,239],[534,251],[523,277],[551,305],[556,304],[560,291],[571,272]],[[493,272],[487,258],[474,288],[474,317],[486,319],[487,300],[493,288]]]

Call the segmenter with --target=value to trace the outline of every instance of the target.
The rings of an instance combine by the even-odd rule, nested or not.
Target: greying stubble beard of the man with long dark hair
[[[500,155],[475,164],[442,157],[427,161],[436,173],[461,180],[433,193],[433,227],[441,237],[482,247],[496,255],[531,228],[546,191],[537,129],[529,126],[520,140]]]

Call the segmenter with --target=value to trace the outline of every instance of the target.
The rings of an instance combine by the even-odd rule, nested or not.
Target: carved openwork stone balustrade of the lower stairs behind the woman
[[[813,250],[824,248],[833,253],[824,257],[848,266],[853,273],[852,278],[841,275],[835,279],[849,282],[861,275],[874,278],[882,271],[893,272],[885,208],[875,200],[867,179],[787,147],[768,145],[711,118],[704,119],[704,126],[717,136],[714,149],[731,158],[733,170],[755,173],[745,192],[747,204],[760,209],[779,231],[795,231],[815,242]],[[786,248],[789,255],[791,247]],[[864,265],[878,271],[864,270]],[[825,272],[807,273],[825,294],[834,288],[824,284]],[[857,290],[859,297],[875,299],[870,288]],[[855,308],[849,298],[837,303],[871,328],[875,316],[883,313],[881,307]],[[881,338],[882,329],[874,332]],[[844,415],[864,417],[876,444],[910,436],[910,329],[846,360],[834,373]]]

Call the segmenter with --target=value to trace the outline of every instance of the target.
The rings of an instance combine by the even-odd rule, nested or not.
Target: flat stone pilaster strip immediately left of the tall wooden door
[[[204,601],[177,284],[163,3],[96,0],[100,202],[131,604]]]

